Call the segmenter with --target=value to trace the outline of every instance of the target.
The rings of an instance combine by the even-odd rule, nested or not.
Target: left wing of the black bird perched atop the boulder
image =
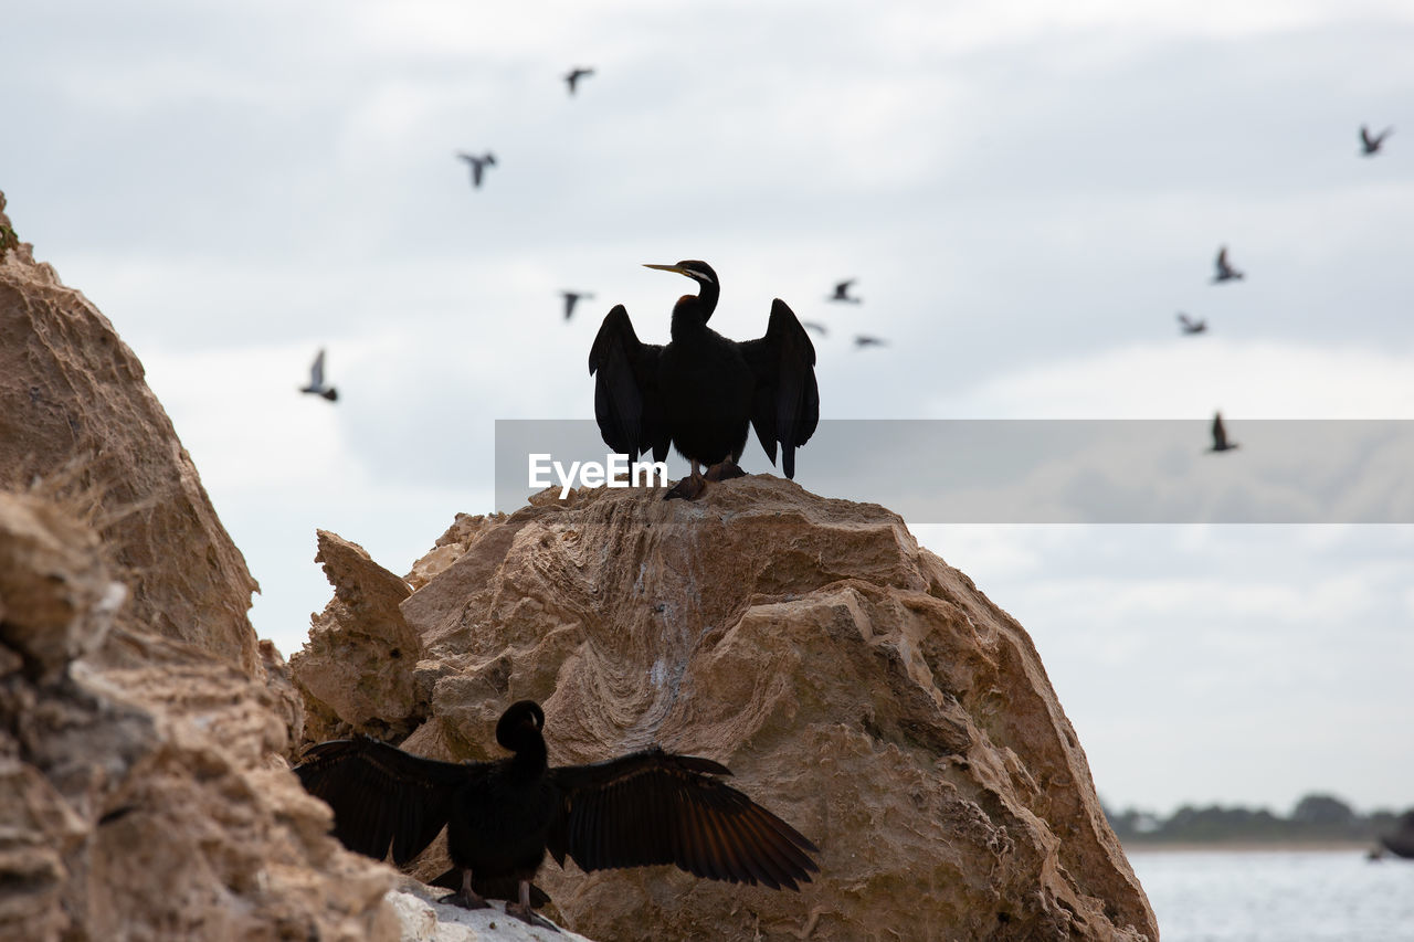
[[[622,304],[604,317],[590,348],[590,375],[594,380],[594,417],[604,444],[615,453],[638,455],[653,453],[655,461],[667,458],[672,436],[658,392],[658,361],[663,348],[643,344],[633,332],[633,322]]]

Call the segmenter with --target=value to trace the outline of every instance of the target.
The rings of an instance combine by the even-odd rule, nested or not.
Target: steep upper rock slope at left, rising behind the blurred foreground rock
[[[0,487],[24,489],[37,477],[90,505],[129,590],[124,620],[259,670],[246,617],[256,583],[141,364],[17,242],[0,250]]]

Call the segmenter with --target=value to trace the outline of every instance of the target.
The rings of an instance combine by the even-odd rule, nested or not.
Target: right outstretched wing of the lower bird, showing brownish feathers
[[[713,775],[725,767],[648,750],[597,765],[550,769],[563,795],[546,842],[584,870],[676,864],[708,880],[809,883],[819,849],[800,832]]]

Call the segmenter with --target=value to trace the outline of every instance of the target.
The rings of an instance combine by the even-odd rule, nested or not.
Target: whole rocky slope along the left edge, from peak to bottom
[[[0,214],[0,939],[551,938],[438,926],[328,836],[281,758],[304,700],[246,621],[243,559],[133,354],[13,235]],[[361,553],[324,550],[344,581]],[[402,624],[385,576],[345,622]]]

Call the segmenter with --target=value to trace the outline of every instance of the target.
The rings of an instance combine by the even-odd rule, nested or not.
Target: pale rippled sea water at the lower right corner
[[[1162,942],[1414,942],[1414,860],[1130,850]]]

